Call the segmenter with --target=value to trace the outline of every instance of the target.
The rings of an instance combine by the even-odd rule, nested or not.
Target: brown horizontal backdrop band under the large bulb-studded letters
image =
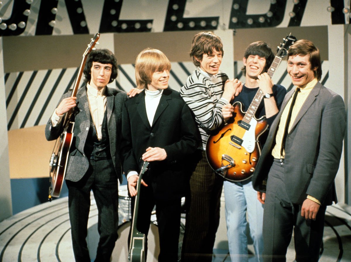
[[[115,55],[119,64],[132,64],[141,50],[153,47],[163,51],[171,61],[190,61],[191,41],[198,32],[114,33]],[[238,29],[234,34],[234,59],[240,60],[246,46],[258,40],[269,43],[275,50],[290,32],[298,39],[313,41],[321,51],[322,60],[328,60],[327,26]],[[92,37],[86,34],[3,37],[4,70],[9,73],[79,67]],[[103,34],[99,42],[107,45]],[[230,47],[225,50],[229,51]]]

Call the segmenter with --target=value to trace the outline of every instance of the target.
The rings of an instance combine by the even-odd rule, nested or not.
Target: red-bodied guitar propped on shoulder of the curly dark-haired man
[[[85,62],[88,54],[93,50],[95,44],[98,44],[100,33],[95,34],[94,38],[91,39],[87,49],[83,54],[83,59],[79,67],[78,76],[75,79],[71,97],[77,96],[80,79],[84,70]],[[73,139],[73,127],[74,122],[72,120],[74,109],[69,110],[65,113],[62,119],[62,126],[64,127],[60,137],[56,140],[54,149],[50,158],[50,186],[49,186],[49,201],[52,197],[59,197],[62,189],[62,184],[66,175],[67,161],[69,156],[69,149],[71,148]]]

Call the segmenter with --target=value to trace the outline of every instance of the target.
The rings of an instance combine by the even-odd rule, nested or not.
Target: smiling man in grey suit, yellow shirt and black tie
[[[265,261],[286,261],[294,231],[296,261],[318,261],[326,206],[337,202],[345,104],[319,83],[319,50],[311,41],[290,47],[287,72],[296,89],[284,98],[252,179],[264,203],[263,254]]]

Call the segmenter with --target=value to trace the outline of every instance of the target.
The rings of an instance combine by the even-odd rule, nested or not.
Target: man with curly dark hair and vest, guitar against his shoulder
[[[91,261],[85,238],[93,190],[100,234],[95,261],[110,261],[118,237],[121,116],[127,96],[106,86],[117,77],[117,61],[110,50],[91,51],[84,76],[87,84],[77,97],[71,97],[71,92],[62,96],[45,135],[47,140],[57,139],[63,131],[62,117],[75,107],[65,177],[74,257],[75,261]]]

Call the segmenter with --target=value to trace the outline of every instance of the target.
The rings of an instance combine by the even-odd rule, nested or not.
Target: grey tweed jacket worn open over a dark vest
[[[71,93],[72,92],[65,93],[61,100],[71,96]],[[118,178],[120,182],[122,182],[120,163],[121,117],[122,106],[127,99],[127,95],[125,92],[109,87],[106,87],[105,94],[107,99],[106,117],[111,156]],[[69,150],[65,179],[77,182],[85,175],[89,167],[89,161],[84,152],[84,146],[90,128],[90,109],[86,87],[79,88],[77,92],[77,106],[75,107],[74,115],[73,140]],[[62,122],[61,125],[59,124],[53,127],[50,118],[45,127],[46,139],[57,139],[62,132]]]

